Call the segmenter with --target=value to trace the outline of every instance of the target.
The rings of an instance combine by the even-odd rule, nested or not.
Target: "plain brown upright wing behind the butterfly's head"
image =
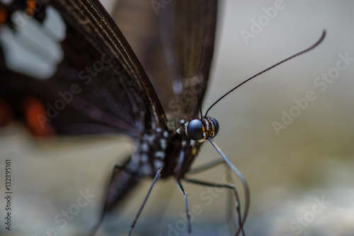
[[[113,18],[173,119],[198,117],[215,40],[217,1],[119,1]],[[142,47],[144,45],[144,47]]]

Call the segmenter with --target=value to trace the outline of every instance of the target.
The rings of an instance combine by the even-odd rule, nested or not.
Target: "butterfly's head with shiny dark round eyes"
[[[212,117],[191,120],[185,129],[185,134],[194,141],[205,141],[214,138],[219,131],[219,123]]]

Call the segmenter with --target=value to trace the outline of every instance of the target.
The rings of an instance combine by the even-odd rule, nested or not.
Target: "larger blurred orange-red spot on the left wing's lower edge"
[[[40,100],[34,97],[25,98],[23,111],[28,127],[35,136],[47,137],[55,135],[53,126],[45,121],[47,114],[45,113],[45,106]]]

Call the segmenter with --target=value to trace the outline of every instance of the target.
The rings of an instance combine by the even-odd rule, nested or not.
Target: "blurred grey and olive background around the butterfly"
[[[354,234],[353,1],[220,1],[217,45],[203,110],[246,78],[313,45],[312,52],[258,76],[212,108],[220,130],[215,141],[241,170],[251,188],[246,235]],[[114,1],[107,1],[107,7]],[[272,18],[271,7],[281,10]],[[268,20],[267,20],[268,19]],[[261,21],[258,32],[254,22]],[[253,26],[252,26],[253,25]],[[251,35],[245,40],[244,35]],[[339,56],[342,55],[342,56]],[[338,71],[338,74],[335,74]],[[327,82],[321,74],[330,74]],[[319,77],[319,78],[318,78]],[[308,92],[310,91],[310,92]],[[312,91],[312,92],[311,92]],[[295,100],[313,93],[304,109]],[[306,104],[304,102],[303,104]],[[282,124],[283,116],[294,114]],[[274,124],[286,129],[275,129]],[[285,121],[287,122],[287,121]],[[9,235],[86,235],[98,217],[114,163],[130,151],[125,137],[57,138],[38,143],[21,124],[0,130],[0,234],[4,230],[4,160],[12,160],[13,229]],[[195,166],[218,158],[209,145]],[[1,166],[2,165],[2,166]],[[221,182],[224,167],[195,175]],[[98,235],[127,235],[152,179],[145,179]],[[235,182],[243,201],[243,191]],[[184,183],[189,206],[199,206],[193,235],[234,235],[227,220],[226,190]],[[94,195],[67,225],[63,211],[76,209],[89,189]],[[219,189],[217,189],[219,190]],[[188,235],[184,201],[173,179],[156,184],[133,235]],[[58,218],[57,218],[58,220]],[[181,230],[178,230],[181,229]]]

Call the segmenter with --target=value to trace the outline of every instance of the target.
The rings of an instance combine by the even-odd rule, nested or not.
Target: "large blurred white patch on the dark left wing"
[[[59,13],[50,7],[47,8],[47,18],[49,22],[40,25],[37,20],[25,17],[22,11],[13,13],[11,20],[15,23],[16,33],[11,33],[8,28],[0,31],[0,43],[9,69],[35,78],[49,78],[55,73],[63,52],[52,35],[59,40],[64,38],[65,24]]]

